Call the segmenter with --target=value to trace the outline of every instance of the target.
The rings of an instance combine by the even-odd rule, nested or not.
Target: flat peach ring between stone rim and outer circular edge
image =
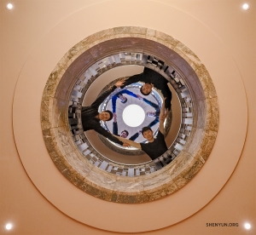
[[[46,77],[49,76],[53,65],[57,63],[62,54],[73,44],[77,43],[78,40],[84,38],[84,32],[85,35],[86,33],[88,35],[88,32],[89,34],[94,32],[94,28],[92,29],[90,27],[88,29],[87,25],[81,25],[81,19],[89,20],[90,16],[93,17],[95,15],[86,14],[88,12],[94,13],[100,11],[102,12],[102,15],[105,15],[104,13],[106,13],[107,7],[109,7],[109,9],[122,7],[124,8],[122,14],[125,14],[126,12],[127,14],[130,14],[131,10],[135,10],[136,13],[138,12],[137,9],[139,9],[137,8],[138,3],[132,4],[131,2],[124,2],[120,5],[119,2],[111,1],[108,3],[86,6],[84,9],[80,9],[75,12],[75,14],[61,20],[53,30],[41,38],[37,47],[32,50],[32,53],[25,61],[25,64],[20,71],[13,103],[15,144],[19,152],[20,161],[26,169],[26,173],[30,177],[32,183],[38,188],[38,192],[41,192],[44,198],[48,199],[49,203],[52,203],[55,208],[60,209],[61,212],[72,217],[74,220],[89,226],[114,232],[146,232],[166,226],[172,226],[173,224],[194,215],[200,209],[205,207],[207,203],[210,203],[212,198],[222,190],[225,183],[229,180],[230,175],[232,175],[236,168],[236,164],[241,157],[241,151],[247,134],[246,93],[242,83],[241,74],[236,66],[236,60],[231,56],[225,44],[221,42],[219,38],[200,20],[196,20],[195,17],[182,10],[162,3],[148,1],[143,1],[143,3],[148,3],[150,7],[154,7],[155,12],[160,12],[161,16],[166,15],[166,18],[160,18],[158,25],[161,22],[165,22],[164,20],[169,19],[168,16],[170,15],[172,15],[172,18],[176,17],[175,22],[172,23],[172,20],[170,20],[170,25],[168,25],[168,28],[164,29],[164,31],[169,32],[170,34],[172,33],[172,35],[175,35],[177,38],[181,38],[183,42],[187,42],[189,47],[193,48],[197,54],[200,54],[201,59],[204,60],[208,69],[210,69],[218,92],[221,118],[218,138],[211,153],[213,158],[207,160],[205,167],[201,169],[200,173],[196,175],[195,179],[190,184],[183,187],[183,189],[177,193],[174,193],[172,197],[166,197],[162,200],[154,201],[154,203],[147,203],[147,205],[113,204],[97,200],[80,191],[77,187],[73,186],[62,177],[49,158],[49,153],[45,148],[43,138],[40,138],[42,133],[39,118],[41,95],[38,95],[38,92],[39,94],[43,93]],[[143,3],[141,3],[142,7]],[[116,6],[116,4],[119,4],[119,6]],[[88,11],[89,9],[90,11]],[[111,12],[108,12],[108,15],[109,14],[111,14]],[[108,17],[106,17],[106,19],[108,19]],[[143,20],[143,25],[156,27],[154,19],[147,19],[146,15],[145,18],[142,19],[146,19],[146,21]],[[127,20],[122,18],[123,25],[132,24],[131,19],[129,19],[128,22],[126,21]],[[178,28],[176,22],[180,22]],[[119,23],[109,22],[109,20],[105,23],[108,27],[119,25]],[[73,29],[77,28],[77,24],[79,24],[79,29],[76,31],[77,33],[74,34],[75,37],[65,37],[65,40],[62,38],[62,34],[56,37],[55,33],[63,32],[63,28],[65,28],[66,32],[73,32]],[[101,30],[104,28],[104,26],[99,24],[96,25],[98,31],[99,29]],[[137,24],[137,22],[134,24]],[[185,33],[184,30],[186,30]],[[191,33],[191,35],[189,33]],[[188,39],[188,35],[192,37],[191,40]],[[55,47],[55,53],[53,54],[51,48],[53,44],[56,45],[59,41],[62,42],[59,44],[61,45],[61,48]],[[198,42],[201,43],[199,44]],[[207,54],[207,48],[212,49],[211,59]],[[49,49],[51,50],[49,51]],[[38,54],[41,56],[38,56]],[[47,60],[49,55],[50,60]],[[212,58],[218,58],[218,60],[212,63]],[[218,70],[219,67],[220,71]],[[222,74],[221,72],[223,72],[224,69],[229,70],[229,73]],[[37,82],[34,82],[34,74],[36,74],[38,70],[40,71],[40,73],[38,73],[40,79],[37,79]],[[229,87],[231,82],[236,85],[235,90],[223,89],[223,86]],[[35,93],[34,90],[37,92]],[[229,95],[230,98],[234,99],[239,96],[239,102],[236,103],[238,117],[232,124],[229,123],[230,109],[227,107],[235,108],[235,106],[233,101],[225,99],[226,95]],[[33,102],[27,102],[27,100],[31,98],[33,98]],[[24,112],[24,106],[35,111],[36,115],[27,116],[27,113]],[[234,111],[234,109],[231,109],[231,111]],[[27,122],[32,123],[33,126],[24,125],[24,123]],[[236,129],[234,129],[234,123],[237,124]],[[25,138],[26,140],[24,141]],[[35,138],[39,140],[34,143],[33,140]],[[234,141],[236,142],[236,145],[234,145]],[[224,148],[224,142],[226,142],[227,146],[233,146],[232,149],[227,150]],[[31,143],[34,143],[36,148],[31,147]],[[41,158],[35,158],[38,156],[38,151],[40,152]],[[226,161],[224,161],[224,158]],[[48,170],[49,174],[44,174],[45,169]],[[216,175],[216,170],[218,170],[218,175]],[[44,177],[42,177],[42,175],[44,175]],[[54,178],[52,178],[53,176]],[[45,181],[48,181],[49,183],[46,185]],[[209,187],[209,184],[211,184],[211,187]],[[196,192],[192,186],[197,188]],[[207,187],[207,191],[205,190],[205,187]],[[190,200],[187,200],[188,195],[190,195]],[[202,195],[203,197],[201,197]],[[73,201],[72,207],[69,206],[71,200]],[[191,200],[194,203],[191,203]],[[94,206],[91,206],[92,204]],[[109,216],[109,209],[112,210],[114,216]],[[118,214],[119,211],[123,209],[125,209],[125,214]],[[168,211],[168,209],[172,209],[173,213],[170,213],[170,216],[161,217],[161,220],[155,221],[150,214],[151,211],[154,211],[155,216],[159,218],[166,212],[166,210]],[[116,215],[119,215],[119,220],[123,221],[122,224],[116,223]],[[103,220],[100,220],[101,218],[103,218]],[[144,220],[137,223],[139,218],[144,218]]]

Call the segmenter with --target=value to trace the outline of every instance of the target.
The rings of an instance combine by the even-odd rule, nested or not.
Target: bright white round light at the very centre
[[[130,127],[137,127],[143,123],[145,112],[141,106],[130,105],[126,106],[123,111],[123,120]]]

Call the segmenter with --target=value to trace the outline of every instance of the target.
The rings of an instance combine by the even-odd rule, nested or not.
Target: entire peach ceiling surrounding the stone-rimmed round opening
[[[224,220],[232,215],[239,222],[240,228],[242,221],[246,219],[245,215],[248,220],[253,218],[251,203],[255,187],[253,187],[252,178],[249,177],[253,172],[252,120],[255,119],[253,119],[252,109],[254,37],[249,33],[253,32],[252,22],[255,15],[253,14],[253,12],[255,13],[253,5],[249,11],[244,12],[240,8],[240,3],[236,2],[231,4],[209,2],[196,7],[189,1],[183,3],[98,1],[93,5],[81,1],[78,4],[67,1],[67,4],[62,5],[61,9],[56,1],[37,3],[32,6],[28,4],[28,1],[24,3],[27,4],[15,3],[13,12],[6,11],[4,13],[3,10],[2,14],[3,74],[6,74],[3,77],[3,86],[1,86],[4,96],[2,104],[4,110],[2,134],[4,138],[1,150],[3,151],[3,174],[5,176],[2,183],[3,188],[6,189],[3,193],[3,203],[6,204],[3,206],[2,217],[3,220],[9,218],[17,222],[15,223],[15,232],[24,234],[31,232],[48,234],[53,231],[56,234],[63,234],[63,232],[79,234],[84,231],[97,234],[103,234],[106,231],[187,233],[189,228],[191,234],[198,234],[200,232],[207,233],[210,230],[216,231],[216,227],[192,226],[201,221],[207,222],[206,218],[216,221],[219,218]],[[141,11],[145,3],[147,3],[147,9]],[[52,10],[49,11],[49,8]],[[211,10],[209,11],[209,9]],[[140,20],[137,17],[124,17],[131,13],[134,16],[140,15]],[[158,17],[149,17],[150,13],[154,13],[155,17]],[[214,14],[218,14],[218,17],[209,17]],[[45,15],[47,15],[46,18]],[[99,15],[104,20],[96,19]],[[227,20],[227,15],[232,20]],[[44,18],[45,20],[42,20]],[[22,31],[17,30],[17,22],[19,22],[19,28],[23,29]],[[88,22],[93,22],[93,24],[88,24]],[[113,27],[138,26],[138,24],[160,30],[177,38],[197,54],[207,67],[216,88],[220,120],[218,136],[211,155],[200,172],[189,181],[189,184],[169,197],[154,200],[151,203],[125,205],[91,197],[67,181],[69,169],[63,168],[60,172],[51,160],[53,152],[50,153],[45,148],[46,143],[42,138],[39,113],[43,112],[42,109],[40,110],[40,103],[49,74],[63,54],[73,45],[95,32],[111,29],[103,32],[100,39],[94,37],[93,40],[87,40],[87,42],[98,44],[102,42],[102,38],[113,39],[115,37],[108,34],[108,32],[113,32]],[[226,31],[227,28],[229,31]],[[131,37],[132,32],[130,32],[126,28],[122,31],[123,37]],[[148,38],[156,33],[160,35],[160,32],[151,30]],[[144,37],[143,33],[137,31],[137,37]],[[166,37],[162,35],[158,37],[158,40],[160,43],[165,43]],[[85,43],[84,46],[86,46]],[[172,47],[172,49],[178,53],[181,51],[179,46]],[[67,66],[70,65],[68,60],[74,61],[73,55],[77,52],[79,54],[79,49],[74,47],[66,55],[66,59],[61,60],[62,72],[65,72]],[[189,50],[183,51],[182,54],[183,57],[189,58],[190,61],[188,58],[186,59],[189,61],[189,65],[201,77],[200,65],[193,59],[195,56],[189,53]],[[159,56],[156,57],[159,58]],[[61,73],[61,69],[58,72]],[[115,72],[117,73],[118,70]],[[71,70],[69,73],[73,74]],[[116,78],[131,75],[122,73]],[[70,78],[72,80],[72,77]],[[59,81],[57,80],[56,83]],[[201,82],[203,81],[204,79],[201,77]],[[108,83],[110,82],[109,79]],[[97,83],[97,80],[94,83]],[[54,85],[54,83],[52,84]],[[103,84],[103,87],[105,85],[107,83]],[[207,85],[204,84],[203,88],[207,90]],[[101,89],[96,90],[97,94]],[[66,92],[65,87],[63,90]],[[91,90],[91,92],[93,91]],[[56,97],[51,95],[49,100],[44,99],[44,101],[51,106],[51,101],[58,100]],[[207,97],[209,96],[207,95]],[[216,100],[214,96],[209,100],[211,99]],[[90,102],[90,97],[87,96],[86,100]],[[28,114],[24,110],[25,108],[33,113]],[[233,113],[234,110],[236,110],[236,117],[231,117],[230,113]],[[59,117],[59,114],[60,112],[56,112],[55,117]],[[62,114],[64,112],[61,112],[61,120],[65,120],[62,118]],[[172,122],[175,120],[172,119]],[[14,135],[10,131],[12,127]],[[53,124],[50,127],[51,130],[61,131],[61,121],[58,125],[59,128]],[[44,133],[46,133],[45,129]],[[207,132],[210,142],[212,133],[214,132]],[[52,139],[51,142],[55,142],[55,140],[57,139]],[[63,135],[62,141],[65,140],[65,135]],[[59,143],[61,144],[61,142]],[[206,141],[204,144],[208,145]],[[202,157],[204,158],[204,155]],[[61,161],[61,158],[55,158],[55,161]],[[166,168],[158,172],[164,171]],[[155,172],[154,175],[157,175],[158,172]],[[91,172],[91,174],[94,173]],[[164,174],[160,174],[159,177],[162,175]],[[245,184],[243,179],[246,175],[248,177]],[[75,174],[72,177],[76,179]],[[138,178],[140,179],[138,182],[140,182],[145,177],[139,176]],[[14,179],[19,179],[19,184],[14,184]],[[162,180],[163,178],[158,179]],[[136,177],[133,177],[133,180],[136,181]],[[71,181],[73,180],[71,179]],[[181,187],[183,182],[183,178],[180,178],[180,181],[176,181],[176,185]],[[153,179],[150,183],[153,183]],[[79,185],[79,182],[75,184]],[[143,186],[148,188],[146,184]],[[155,192],[154,189],[153,191]],[[20,192],[19,203],[15,199],[17,192]],[[235,197],[233,197],[234,192],[236,192]],[[102,194],[99,192],[98,195]],[[155,192],[155,195],[158,195],[158,192]],[[27,198],[30,198],[29,203]],[[229,198],[228,204],[226,203],[227,198]],[[38,209],[38,216],[33,216],[34,205]],[[223,210],[220,215],[219,209],[224,207],[229,209]],[[154,211],[155,217],[161,219],[153,219],[152,211]],[[169,211],[172,213],[170,214]],[[49,216],[47,225],[44,215]],[[116,215],[119,215],[122,224],[116,223],[114,219]],[[142,217],[144,220],[141,220]],[[28,225],[27,221],[32,221],[32,224]],[[40,225],[38,225],[38,221],[40,221]],[[137,221],[140,222],[137,223]],[[58,224],[60,226],[56,226]],[[227,232],[226,227],[219,227],[218,230]],[[241,229],[237,230],[236,227],[230,227],[229,231],[231,233],[243,232]]]

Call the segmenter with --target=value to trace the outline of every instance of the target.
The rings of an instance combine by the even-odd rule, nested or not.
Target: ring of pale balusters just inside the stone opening
[[[86,136],[84,135],[84,130],[81,123],[81,117],[79,115],[81,103],[84,100],[84,95],[90,87],[87,89],[85,88],[85,83],[89,79],[93,79],[95,77],[99,77],[102,75],[103,72],[107,72],[109,69],[115,66],[127,66],[131,64],[131,54],[137,58],[134,61],[134,64],[148,66],[157,72],[161,72],[161,74],[166,77],[170,83],[173,84],[173,88],[175,91],[180,94],[179,100],[182,103],[183,107],[183,129],[179,129],[179,134],[177,133],[176,140],[172,142],[172,146],[169,147],[169,151],[166,152],[160,158],[155,159],[150,163],[143,163],[143,164],[119,164],[116,162],[110,161],[108,158],[105,158],[104,155],[99,154],[98,152],[92,152],[90,149],[94,149],[93,146],[90,145],[90,141],[87,140]],[[121,59],[123,62],[121,63]],[[99,66],[102,69],[99,69]],[[94,76],[92,76],[94,74]],[[177,157],[178,153],[183,150],[183,146],[186,143],[190,135],[190,130],[192,129],[193,123],[193,106],[191,102],[191,95],[189,93],[189,89],[187,85],[184,83],[183,74],[178,74],[176,70],[173,69],[173,66],[167,66],[162,60],[155,58],[152,55],[148,54],[141,54],[141,53],[119,53],[110,55],[102,60],[96,62],[96,64],[90,66],[86,69],[85,72],[82,73],[80,76],[84,80],[81,81],[81,78],[75,83],[73,87],[73,91],[71,93],[70,103],[69,103],[69,124],[70,129],[73,135],[73,139],[75,140],[75,144],[79,147],[79,150],[85,155],[90,163],[99,167],[100,169],[107,170],[108,172],[114,175],[123,175],[123,176],[138,176],[138,175],[148,175],[153,173],[156,170],[161,169],[163,166],[166,166],[168,163],[171,163],[174,158]],[[134,84],[135,86],[138,86]],[[141,86],[139,86],[141,87]],[[152,92],[152,95],[156,98],[157,92]],[[108,100],[107,100],[108,101]],[[160,103],[160,100],[158,101]],[[100,109],[103,111],[104,106]],[[103,123],[103,126],[106,124]],[[167,126],[168,127],[168,126]],[[105,129],[108,129],[105,126]],[[108,129],[109,130],[109,129]],[[166,129],[168,131],[168,129]],[[79,135],[78,135],[79,134]],[[180,138],[182,137],[182,138]],[[101,140],[104,138],[102,137]],[[104,141],[104,140],[103,140]],[[106,140],[104,141],[106,143]],[[108,144],[107,144],[108,145]],[[109,146],[109,145],[108,145]],[[120,151],[119,151],[120,152]],[[130,151],[131,152],[131,151]],[[128,153],[128,152],[127,152]]]

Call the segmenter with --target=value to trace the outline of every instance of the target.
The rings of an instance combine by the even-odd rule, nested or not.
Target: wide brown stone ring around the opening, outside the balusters
[[[70,133],[67,110],[70,95],[79,77],[98,60],[122,51],[151,54],[172,66],[189,92],[189,106],[182,108],[184,112],[193,109],[192,121],[183,117],[182,135],[186,135],[187,130],[189,135],[185,139],[184,136],[179,136],[185,141],[183,145],[177,146],[177,158],[166,167],[148,175],[124,177],[99,169],[84,158],[81,152],[84,146],[87,146],[86,149],[92,155],[96,155],[95,150],[86,142],[81,142],[79,146],[75,144]],[[158,72],[170,79],[162,71]],[[84,89],[95,79],[96,77],[90,78]],[[180,89],[181,81],[172,81],[174,89]],[[185,94],[182,93],[186,90],[179,93],[180,99],[183,99]],[[147,28],[117,27],[86,37],[55,66],[44,89],[41,123],[49,155],[68,181],[96,198],[117,203],[143,203],[177,191],[204,165],[218,132],[218,98],[206,67],[183,43],[163,32]],[[121,168],[119,165],[117,167]],[[125,165],[123,168],[125,169]],[[136,171],[136,167],[134,168]],[[150,170],[150,163],[145,168]]]

